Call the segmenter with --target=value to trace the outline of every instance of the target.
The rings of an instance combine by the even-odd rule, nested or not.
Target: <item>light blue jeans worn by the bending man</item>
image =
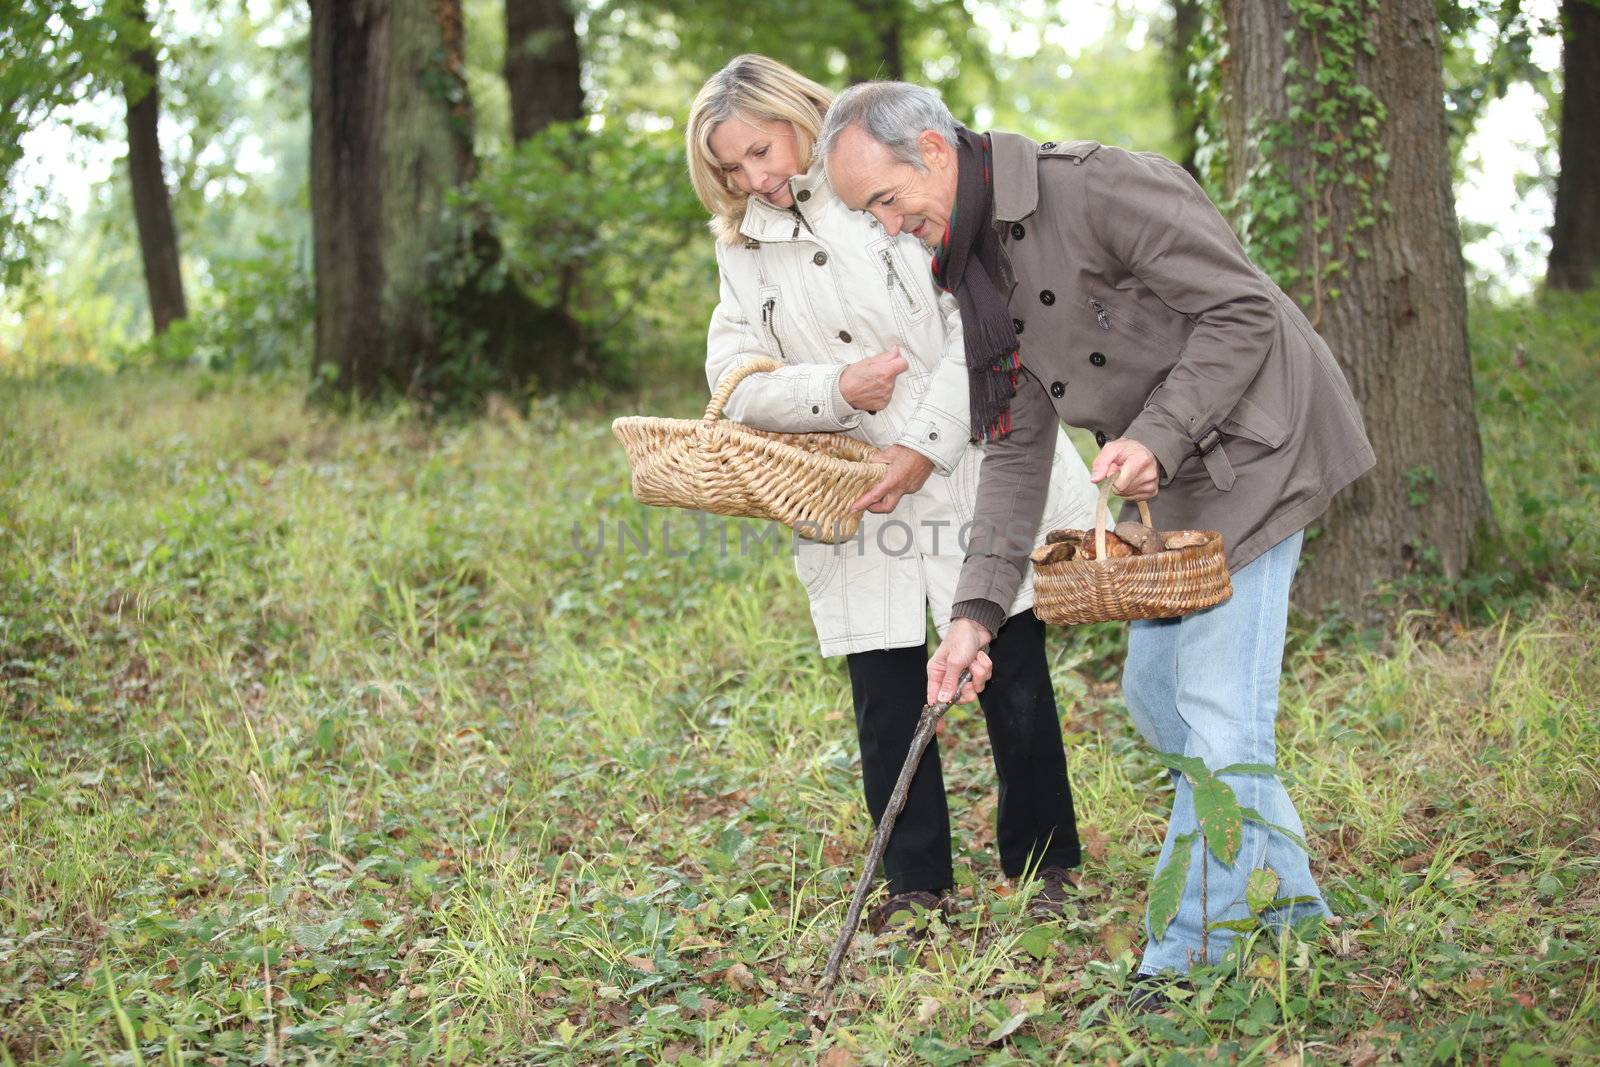
[[[1275,720],[1283,632],[1288,625],[1290,582],[1304,531],[1285,537],[1234,574],[1234,595],[1214,608],[1182,619],[1134,622],[1122,686],[1134,725],[1158,752],[1200,757],[1208,768],[1230,763],[1277,763]],[[1173,816],[1155,870],[1166,867],[1173,843],[1198,829],[1189,779],[1173,774]],[[1227,774],[1243,808],[1304,838],[1299,814],[1283,782],[1267,774]],[[1328,915],[1304,849],[1286,835],[1245,822],[1232,864],[1214,854],[1202,875],[1205,838],[1190,843],[1189,881],[1178,917],[1160,941],[1147,937],[1142,974],[1186,973],[1195,963],[1216,963],[1237,937],[1216,923],[1248,920],[1245,880],[1256,867],[1280,878],[1278,899],[1307,902],[1275,909],[1274,923]],[[1202,878],[1205,880],[1202,907]],[[1206,920],[1213,925],[1205,936]],[[1149,936],[1149,917],[1146,934]]]

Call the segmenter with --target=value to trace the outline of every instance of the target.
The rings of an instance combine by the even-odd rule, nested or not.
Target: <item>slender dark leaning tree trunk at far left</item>
[[[128,61],[134,74],[123,83],[128,104],[128,179],[133,187],[133,218],[139,229],[139,254],[144,259],[144,286],[150,294],[150,318],[160,334],[166,333],[173,320],[184,318],[189,309],[178,262],[173,205],[162,171],[162,141],[157,133],[162,93],[155,42],[144,5],[136,3],[131,14],[136,30]]]

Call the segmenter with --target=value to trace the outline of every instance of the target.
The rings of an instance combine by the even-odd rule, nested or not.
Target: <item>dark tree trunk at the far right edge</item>
[[[1562,173],[1544,283],[1587,290],[1600,269],[1600,3],[1562,3]]]

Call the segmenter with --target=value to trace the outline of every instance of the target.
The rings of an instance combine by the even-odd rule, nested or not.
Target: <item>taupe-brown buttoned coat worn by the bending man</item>
[[[1306,317],[1176,163],[994,133],[1002,293],[1024,374],[987,446],[957,616],[998,629],[1040,523],[1056,421],[1155,453],[1162,530],[1216,530],[1237,571],[1322,515],[1373,450]]]

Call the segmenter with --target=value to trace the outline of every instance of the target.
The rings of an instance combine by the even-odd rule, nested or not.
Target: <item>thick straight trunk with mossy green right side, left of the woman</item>
[[[440,211],[472,160],[442,91],[459,0],[310,0],[310,16],[315,365],[339,392],[406,390],[437,355]]]

